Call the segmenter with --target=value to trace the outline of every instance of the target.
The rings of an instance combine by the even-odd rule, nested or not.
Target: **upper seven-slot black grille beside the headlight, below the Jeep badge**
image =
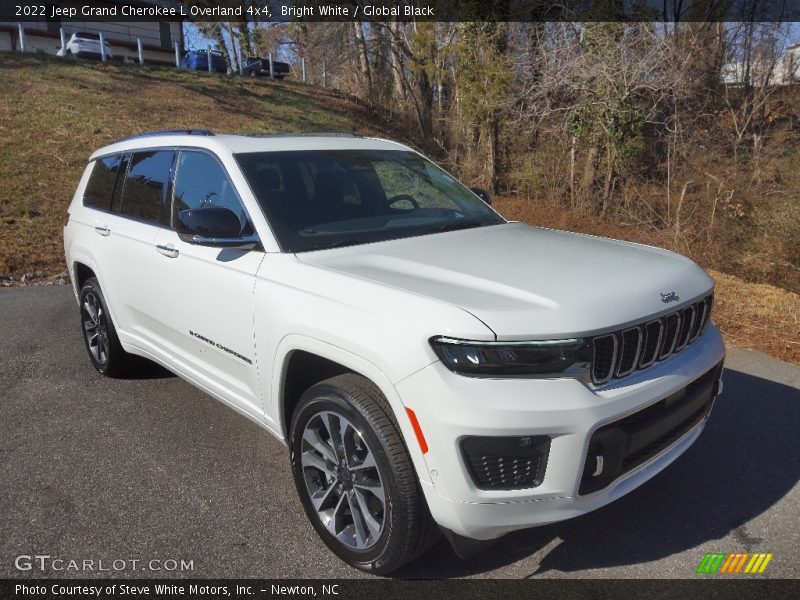
[[[666,360],[698,339],[711,314],[712,296],[642,325],[592,340],[592,382],[601,385]]]

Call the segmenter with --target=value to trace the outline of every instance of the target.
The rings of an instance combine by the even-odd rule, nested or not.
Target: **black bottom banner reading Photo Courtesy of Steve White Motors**
[[[400,581],[366,580],[135,580],[135,579],[30,579],[0,580],[3,600],[89,598],[135,598],[207,600],[218,598],[265,600],[267,598],[329,598],[331,600],[485,600],[525,598],[526,600],[677,600],[719,598],[720,600],[772,600],[800,596],[798,580],[766,580],[744,577],[693,580],[469,580]]]

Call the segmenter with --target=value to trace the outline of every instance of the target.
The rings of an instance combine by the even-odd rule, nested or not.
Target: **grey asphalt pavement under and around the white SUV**
[[[628,496],[469,561],[442,540],[396,576],[710,577],[706,552],[770,552],[762,576],[799,577],[800,368],[731,349],[724,382],[698,442]],[[111,571],[70,570],[86,560]],[[366,576],[317,538],[277,440],[159,367],[101,377],[68,286],[2,289],[0,577],[92,575]]]

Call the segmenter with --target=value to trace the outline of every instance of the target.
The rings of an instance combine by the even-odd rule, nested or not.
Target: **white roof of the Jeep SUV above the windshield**
[[[217,154],[298,150],[410,150],[397,142],[347,134],[215,135],[206,130],[176,130],[122,138],[98,149],[91,158],[140,148],[172,146],[205,148]]]

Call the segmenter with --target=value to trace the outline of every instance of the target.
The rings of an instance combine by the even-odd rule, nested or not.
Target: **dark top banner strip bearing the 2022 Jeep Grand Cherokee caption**
[[[800,21],[800,0],[0,0],[0,21]]]

